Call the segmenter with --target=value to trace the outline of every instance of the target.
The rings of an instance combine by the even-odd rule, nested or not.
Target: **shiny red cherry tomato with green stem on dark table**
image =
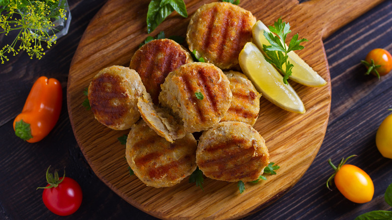
[[[53,213],[61,216],[70,215],[80,207],[82,201],[80,185],[75,180],[65,177],[65,172],[64,176],[59,178],[56,170],[53,177],[49,173],[49,168],[46,171],[48,185],[38,187],[44,188],[42,200]]]

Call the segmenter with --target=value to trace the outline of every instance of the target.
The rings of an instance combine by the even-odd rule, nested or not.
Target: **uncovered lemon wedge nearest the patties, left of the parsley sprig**
[[[305,113],[305,106],[290,84],[283,83],[283,76],[268,63],[252,42],[245,44],[238,57],[242,71],[256,89],[269,101],[286,111]]]

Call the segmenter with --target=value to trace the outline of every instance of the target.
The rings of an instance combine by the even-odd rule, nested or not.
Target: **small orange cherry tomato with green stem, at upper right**
[[[373,60],[373,62],[372,62]],[[390,70],[392,70],[392,56],[390,53],[384,49],[376,48],[371,50],[365,58],[365,61],[370,64],[373,63],[373,68],[377,71],[370,70],[373,74],[380,74],[381,76],[386,75]],[[377,66],[379,65],[379,66]],[[365,66],[369,69],[370,66]]]

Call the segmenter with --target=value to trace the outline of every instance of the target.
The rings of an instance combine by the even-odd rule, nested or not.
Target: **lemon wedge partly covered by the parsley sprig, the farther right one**
[[[263,44],[267,46],[271,45],[264,37],[264,31],[270,32],[267,26],[265,26],[261,21],[257,21],[252,29],[253,40],[257,47],[263,52],[263,54]],[[292,67],[292,75],[288,77],[289,79],[312,87],[320,87],[327,84],[327,82],[319,74],[317,74],[317,72],[314,71],[312,67],[305,63],[305,61],[301,59],[301,57],[298,56],[294,51],[288,52],[287,55],[288,61],[294,65],[294,67]]]

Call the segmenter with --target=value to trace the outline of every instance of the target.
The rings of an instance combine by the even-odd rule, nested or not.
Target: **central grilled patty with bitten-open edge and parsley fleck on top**
[[[169,73],[161,87],[159,102],[178,114],[190,133],[207,130],[221,121],[232,99],[229,80],[211,63],[184,64]],[[203,99],[196,92],[201,92]]]

